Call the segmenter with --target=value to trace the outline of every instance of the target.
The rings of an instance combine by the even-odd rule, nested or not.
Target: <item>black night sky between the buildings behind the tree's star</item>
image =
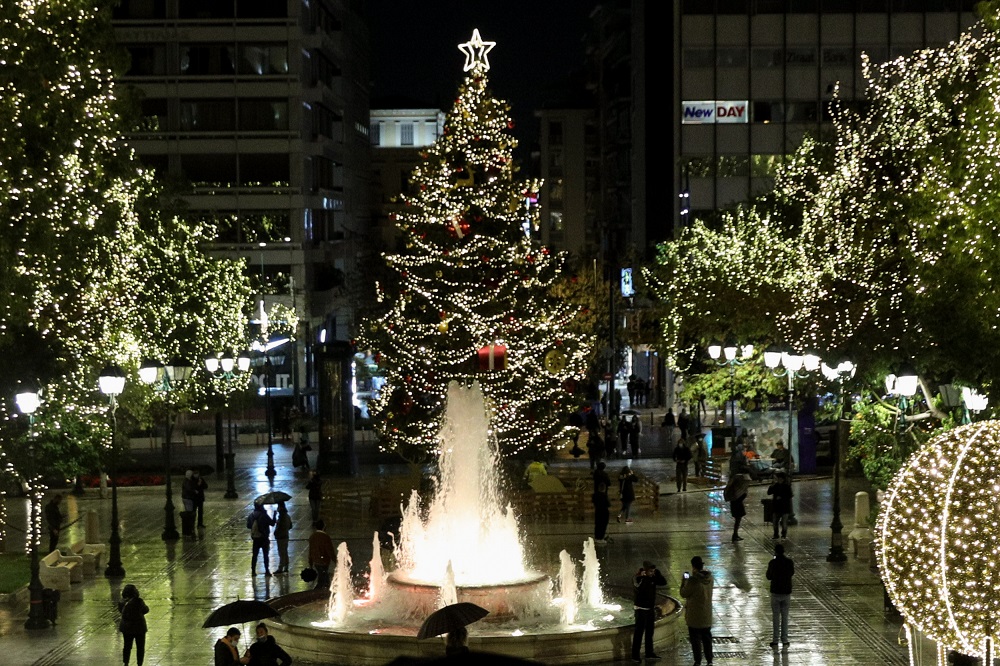
[[[490,88],[507,100],[521,148],[535,140],[535,109],[563,99],[584,65],[590,0],[369,0],[372,108],[451,109],[464,78],[458,45],[479,28],[496,42]],[[582,80],[582,79],[581,79]]]

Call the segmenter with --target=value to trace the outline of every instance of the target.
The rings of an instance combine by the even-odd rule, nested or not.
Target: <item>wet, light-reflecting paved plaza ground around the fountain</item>
[[[644,436],[652,436],[651,433]],[[905,650],[897,636],[900,621],[883,612],[883,592],[877,575],[868,563],[853,556],[844,564],[825,561],[830,543],[832,481],[810,477],[795,485],[795,512],[799,524],[792,527],[787,541],[788,554],[796,564],[792,596],[791,646],[773,651],[769,646],[771,613],[764,570],[771,556],[771,528],[762,522],[760,499],[764,486],[754,486],[744,519],[745,541],[733,544],[732,519],[723,503],[721,489],[689,486],[686,493],[674,493],[672,463],[653,455],[634,461],[634,468],[661,482],[657,514],[640,511],[631,525],[617,524],[614,510],[610,534],[613,542],[598,549],[605,589],[613,595],[628,594],[631,575],[644,559],[656,562],[667,578],[665,590],[678,595],[681,573],[689,569],[694,555],[701,555],[706,568],[716,577],[715,664],[780,664],[782,666],[890,665],[906,663]],[[238,499],[225,499],[225,480],[215,475],[206,502],[207,528],[196,538],[165,543],[163,529],[163,487],[122,488],[119,504],[122,524],[122,561],[127,572],[123,581],[111,582],[102,575],[74,585],[59,604],[58,624],[50,629],[28,632],[23,628],[26,609],[0,606],[0,663],[11,666],[33,664],[93,665],[121,663],[121,635],[116,632],[116,601],[125,583],[136,585],[150,607],[146,664],[179,666],[212,663],[212,644],[224,630],[203,629],[202,623],[213,608],[241,599],[267,599],[307,589],[295,572],[306,564],[309,505],[305,497],[306,474],[290,465],[291,447],[275,447],[278,475],[273,487],[293,495],[289,502],[295,527],[290,552],[292,575],[250,577],[250,540],[245,519],[252,499],[270,489],[264,474],[266,458],[259,446],[243,446],[237,453]],[[150,453],[149,455],[154,455]],[[315,455],[315,454],[310,454]],[[212,464],[208,451],[178,447],[178,466],[203,462]],[[609,464],[616,472],[616,464]],[[554,463],[564,474],[589,474],[585,458]],[[362,465],[362,477],[402,474],[405,466]],[[180,477],[174,484],[175,502],[180,507]],[[328,484],[358,483],[352,479],[328,478]],[[843,483],[845,535],[853,526],[853,496],[862,489],[859,479]],[[24,502],[9,500],[13,523],[23,521]],[[97,490],[81,497],[67,495],[64,513],[74,520],[95,510],[100,517],[102,536],[107,539],[111,500]],[[346,541],[356,553],[355,567],[367,567],[375,520],[361,515],[333,517],[328,526],[334,542]],[[23,523],[22,523],[23,524]],[[83,536],[84,520],[74,523],[63,537],[66,545]],[[179,527],[178,520],[178,527]],[[553,576],[558,571],[562,549],[581,557],[584,540],[592,535],[589,521],[528,523],[529,556],[539,569]],[[18,547],[19,538],[9,539],[9,548]],[[848,549],[849,551],[849,549]],[[277,554],[273,549],[272,558]],[[272,560],[273,562],[274,560]],[[547,567],[547,568],[546,568]],[[272,564],[272,569],[276,564]],[[249,626],[247,627],[250,628]],[[661,651],[666,666],[693,663],[686,641]],[[133,662],[134,662],[133,655]],[[301,662],[297,662],[301,663]]]

